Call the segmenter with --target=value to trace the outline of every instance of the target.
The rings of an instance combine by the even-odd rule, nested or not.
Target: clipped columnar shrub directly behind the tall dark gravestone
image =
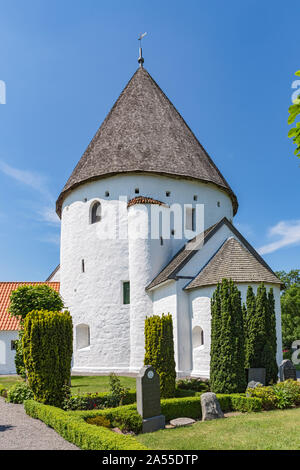
[[[175,396],[175,359],[172,315],[153,315],[145,320],[145,365],[160,377],[160,396]]]

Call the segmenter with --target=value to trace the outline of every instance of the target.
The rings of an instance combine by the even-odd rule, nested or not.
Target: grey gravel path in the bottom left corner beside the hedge
[[[79,450],[42,421],[30,418],[23,405],[0,397],[0,450]]]

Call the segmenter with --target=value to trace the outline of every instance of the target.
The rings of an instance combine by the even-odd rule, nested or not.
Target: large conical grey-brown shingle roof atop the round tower
[[[75,167],[57,200],[76,186],[118,173],[146,172],[213,183],[238,203],[220,171],[150,74],[140,67]]]

